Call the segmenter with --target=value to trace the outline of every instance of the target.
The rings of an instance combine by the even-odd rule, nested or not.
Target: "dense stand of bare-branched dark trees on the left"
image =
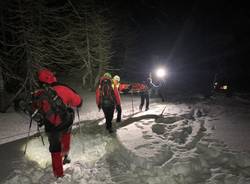
[[[0,97],[3,84],[16,88],[5,109],[36,88],[39,68],[81,73],[84,87],[93,89],[110,67],[112,27],[94,3],[76,9],[71,1],[50,7],[42,0],[12,0],[2,6],[0,21]]]

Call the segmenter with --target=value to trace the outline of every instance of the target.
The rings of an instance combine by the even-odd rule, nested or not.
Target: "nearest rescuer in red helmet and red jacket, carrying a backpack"
[[[63,164],[70,162],[68,153],[74,121],[72,108],[80,107],[82,99],[68,86],[58,84],[56,77],[48,69],[40,70],[38,79],[44,88],[35,92],[33,108],[39,109],[43,114],[53,173],[55,177],[63,177]]]

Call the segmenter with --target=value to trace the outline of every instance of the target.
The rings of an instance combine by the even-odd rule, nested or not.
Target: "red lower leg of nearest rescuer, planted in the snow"
[[[51,158],[54,176],[57,178],[63,177],[63,162],[61,152],[51,153]]]

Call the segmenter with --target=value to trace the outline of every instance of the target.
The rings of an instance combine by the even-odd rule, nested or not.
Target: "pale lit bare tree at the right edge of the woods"
[[[92,3],[77,6],[69,1],[76,18],[74,30],[74,45],[79,56],[77,66],[82,74],[83,86],[94,89],[100,76],[110,68],[112,57],[111,45],[113,39],[112,26],[107,19],[96,11]]]

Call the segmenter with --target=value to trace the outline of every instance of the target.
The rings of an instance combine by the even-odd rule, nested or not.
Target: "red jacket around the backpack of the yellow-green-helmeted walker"
[[[100,84],[105,79],[109,79],[109,78],[102,77],[100,79],[98,87],[96,88],[96,104],[97,104],[98,107],[101,105],[101,102],[102,102],[101,85]],[[110,80],[112,81],[112,79],[110,79]],[[114,91],[115,105],[121,105],[121,98],[120,98],[120,94],[119,94],[118,88],[115,86],[114,89],[113,89],[112,86],[111,86],[111,89]]]

